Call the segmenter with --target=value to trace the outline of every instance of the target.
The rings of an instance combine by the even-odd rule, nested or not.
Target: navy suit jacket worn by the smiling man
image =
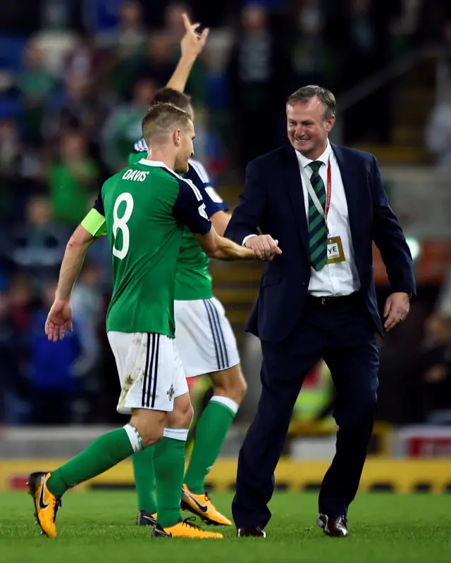
[[[412,256],[388,205],[376,158],[332,145],[347,199],[352,245],[361,291],[376,329],[383,334],[373,279],[373,241],[381,251],[393,292],[415,293]],[[294,148],[283,146],[252,160],[240,205],[226,234],[238,244],[248,234],[270,234],[282,254],[265,262],[259,297],[246,330],[280,341],[302,314],[310,279],[309,235],[304,193]]]

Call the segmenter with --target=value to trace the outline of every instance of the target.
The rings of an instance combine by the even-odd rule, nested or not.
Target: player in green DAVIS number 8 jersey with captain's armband
[[[30,474],[35,515],[48,537],[56,537],[55,518],[63,493],[154,444],[156,478],[161,486],[157,492],[164,504],[158,507],[153,535],[222,537],[180,516],[192,406],[174,346],[175,266],[184,226],[212,258],[249,260],[255,255],[216,233],[197,188],[176,173],[187,171],[192,154],[190,114],[173,104],[156,104],[144,116],[142,132],[152,151],[147,159],[106,180],[94,209],[75,229],[45,327],[54,342],[63,338],[66,329],[72,330],[73,286],[87,249],[106,228],[113,260],[113,296],[106,330],[121,381],[118,412],[130,414],[130,422],[100,436],[58,469]],[[276,243],[273,249],[280,253]]]

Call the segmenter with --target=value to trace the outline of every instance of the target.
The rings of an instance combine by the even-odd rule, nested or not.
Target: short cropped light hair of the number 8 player
[[[154,103],[142,119],[142,137],[147,146],[162,144],[174,129],[187,129],[190,123],[191,115],[173,103]]]

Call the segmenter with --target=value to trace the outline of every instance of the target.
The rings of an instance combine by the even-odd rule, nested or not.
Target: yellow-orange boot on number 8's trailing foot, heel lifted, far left
[[[50,473],[36,472],[28,476],[28,490],[35,503],[35,517],[47,538],[56,538],[55,518],[61,506],[61,498],[52,495],[47,488]]]

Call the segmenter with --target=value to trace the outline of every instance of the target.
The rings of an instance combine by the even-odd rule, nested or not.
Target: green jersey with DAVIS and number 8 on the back
[[[211,228],[199,190],[163,163],[141,158],[106,180],[94,210],[97,220],[88,215],[82,224],[95,236],[106,224],[113,255],[106,330],[173,338],[183,229],[206,234]]]

